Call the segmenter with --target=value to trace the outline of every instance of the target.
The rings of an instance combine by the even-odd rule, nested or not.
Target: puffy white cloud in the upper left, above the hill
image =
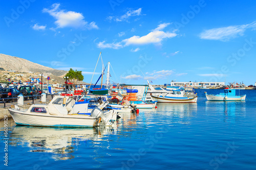
[[[84,20],[82,13],[74,11],[65,11],[59,9],[60,4],[55,3],[51,6],[51,9],[44,8],[42,12],[49,13],[53,16],[56,21],[55,25],[57,28],[87,28],[87,29],[98,29],[98,26],[95,22],[88,23]]]

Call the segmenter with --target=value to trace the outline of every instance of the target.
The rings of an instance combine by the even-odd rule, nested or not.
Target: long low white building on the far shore
[[[186,86],[186,87],[215,87],[224,86],[225,82],[170,82],[171,86]]]

